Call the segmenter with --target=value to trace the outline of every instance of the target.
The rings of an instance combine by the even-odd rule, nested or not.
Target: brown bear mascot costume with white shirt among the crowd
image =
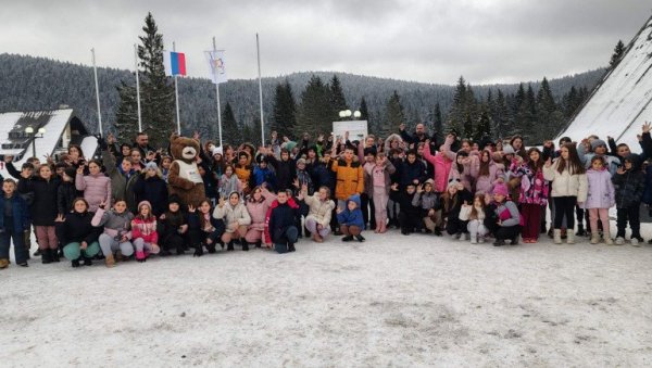
[[[199,141],[196,139],[177,134],[170,137],[170,153],[174,161],[167,175],[167,191],[170,195],[178,195],[184,205],[191,204],[196,207],[206,198],[196,162],[199,150]]]

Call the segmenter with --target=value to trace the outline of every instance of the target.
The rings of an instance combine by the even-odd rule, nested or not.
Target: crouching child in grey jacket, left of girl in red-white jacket
[[[114,252],[120,251],[124,257],[130,257],[134,254],[134,245],[130,241],[134,215],[127,211],[127,202],[124,200],[117,200],[111,211],[105,211],[105,207],[106,202],[102,201],[92,217],[91,225],[104,227],[104,232],[99,238],[100,248],[106,267],[113,267],[115,266]]]

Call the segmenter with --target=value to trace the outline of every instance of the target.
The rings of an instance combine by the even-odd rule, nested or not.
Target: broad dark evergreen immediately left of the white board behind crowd
[[[297,116],[297,136],[310,132],[313,137],[318,134],[333,131],[333,105],[330,89],[322,78],[313,75],[301,93],[301,105]]]

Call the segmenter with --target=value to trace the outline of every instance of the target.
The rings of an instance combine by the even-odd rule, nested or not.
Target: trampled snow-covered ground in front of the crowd
[[[652,236],[644,227],[643,236]],[[0,271],[2,366],[650,366],[652,246],[365,243]]]

